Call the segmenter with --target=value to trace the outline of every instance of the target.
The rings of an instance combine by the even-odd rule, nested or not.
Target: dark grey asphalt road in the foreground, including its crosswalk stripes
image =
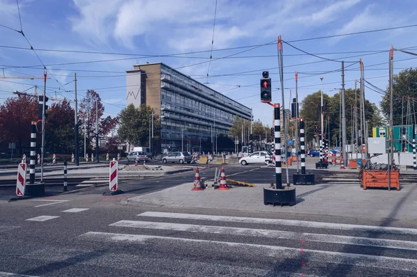
[[[0,276],[362,277],[417,271],[417,229],[404,229],[416,228],[407,222],[120,205],[129,196],[69,193],[0,201]]]

